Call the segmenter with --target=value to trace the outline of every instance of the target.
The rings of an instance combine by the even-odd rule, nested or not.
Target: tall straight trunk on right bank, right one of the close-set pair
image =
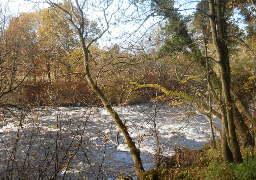
[[[233,154],[234,161],[236,163],[240,163],[243,162],[243,158],[240,152],[239,143],[237,141],[233,118],[233,102],[230,96],[230,67],[225,41],[225,22],[223,21],[221,11],[221,0],[216,0],[216,2],[214,2],[214,0],[209,0],[209,8],[213,45],[216,50],[216,56],[220,70],[222,94],[224,95],[226,105],[226,117],[228,122],[228,134],[230,139],[231,152]]]

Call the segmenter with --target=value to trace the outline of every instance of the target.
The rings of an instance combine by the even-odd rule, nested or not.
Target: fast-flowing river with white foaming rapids
[[[29,108],[1,109],[0,177],[117,179],[128,174],[136,177],[132,156],[121,133],[119,146],[113,144],[118,128],[104,108]],[[153,103],[115,107],[120,118],[126,120],[136,146],[140,143],[145,170],[154,167],[157,148],[154,109]],[[174,153],[174,146],[193,150],[210,141],[207,120],[191,107],[158,104],[155,119],[165,156]],[[213,118],[213,121],[219,127],[220,120]]]

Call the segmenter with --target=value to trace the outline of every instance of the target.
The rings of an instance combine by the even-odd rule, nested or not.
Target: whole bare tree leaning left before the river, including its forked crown
[[[106,99],[104,92],[98,87],[95,80],[91,77],[90,74],[90,59],[89,59],[89,49],[93,42],[97,41],[99,38],[103,36],[105,32],[107,32],[109,28],[109,21],[112,18],[108,17],[107,10],[109,6],[113,3],[112,1],[104,1],[99,4],[93,4],[92,8],[97,9],[99,7],[100,11],[103,13],[103,20],[98,19],[97,22],[90,21],[84,13],[85,5],[87,4],[86,1],[83,1],[82,4],[75,0],[75,4],[71,1],[68,1],[69,9],[64,9],[60,4],[55,3],[51,0],[46,0],[46,2],[55,10],[55,13],[62,18],[63,20],[67,20],[75,29],[78,41],[83,51],[83,59],[84,59],[84,76],[93,89],[93,91],[99,96],[101,99],[104,107],[109,112],[109,114],[113,117],[116,125],[119,127],[121,133],[124,135],[126,143],[130,149],[130,152],[134,159],[134,165],[137,175],[144,171],[142,166],[142,161],[140,157],[140,150],[136,148],[135,142],[132,140],[131,136],[127,131],[127,127],[121,121],[120,117],[118,116],[117,112],[112,108],[111,103]],[[64,14],[64,16],[62,15]],[[102,22],[104,21],[104,22]],[[101,27],[91,29],[91,25],[98,25]],[[97,27],[97,26],[96,26]]]

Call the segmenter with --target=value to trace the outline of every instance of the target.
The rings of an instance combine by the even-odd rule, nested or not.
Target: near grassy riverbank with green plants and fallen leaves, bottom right
[[[251,152],[247,148],[241,149],[244,162],[241,164],[230,164],[225,166],[218,142],[217,148],[198,153],[191,151],[187,159],[194,159],[193,162],[180,164],[177,162],[172,167],[154,168],[139,176],[139,180],[161,180],[161,179],[256,179],[256,158],[251,157]]]

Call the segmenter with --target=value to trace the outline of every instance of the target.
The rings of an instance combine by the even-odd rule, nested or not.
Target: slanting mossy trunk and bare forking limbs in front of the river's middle
[[[75,31],[77,32],[77,35],[79,37],[79,43],[80,43],[81,49],[83,51],[84,75],[86,77],[86,81],[88,82],[88,84],[90,85],[92,90],[99,96],[104,107],[106,108],[108,113],[113,117],[116,125],[118,126],[121,133],[123,134],[124,139],[125,139],[128,147],[130,149],[130,152],[133,156],[136,173],[137,173],[137,175],[139,175],[141,172],[144,171],[143,166],[142,166],[141,156],[140,156],[140,150],[136,148],[135,142],[133,142],[131,136],[129,135],[126,126],[123,124],[123,122],[119,118],[118,114],[115,112],[115,110],[112,108],[111,104],[106,99],[104,92],[93,81],[93,79],[90,75],[89,47],[90,47],[90,45],[92,45],[93,42],[97,41],[100,37],[102,37],[103,34],[106,33],[109,28],[109,22],[107,21],[107,15],[105,12],[105,10],[107,8],[102,10],[102,12],[104,13],[104,16],[105,16],[105,27],[101,26],[102,32],[100,34],[95,33],[94,35],[96,37],[89,40],[89,39],[87,39],[87,37],[85,37],[85,34],[87,34],[88,32],[85,31],[86,29],[85,29],[85,17],[84,17],[83,7],[79,6],[78,1],[75,1],[76,6],[77,6],[76,9],[77,9],[77,12],[79,13],[78,16],[75,15],[75,13],[74,13],[74,9],[73,9],[74,6],[72,4],[72,1],[68,1],[69,5],[71,7],[70,11],[62,8],[59,4],[54,3],[52,1],[47,1],[47,3],[54,8],[55,13],[59,17],[60,17],[60,15],[59,15],[57,8],[59,10],[63,11],[68,16],[67,20],[69,21],[69,23],[74,27]],[[86,44],[85,40],[88,40],[87,44]]]

